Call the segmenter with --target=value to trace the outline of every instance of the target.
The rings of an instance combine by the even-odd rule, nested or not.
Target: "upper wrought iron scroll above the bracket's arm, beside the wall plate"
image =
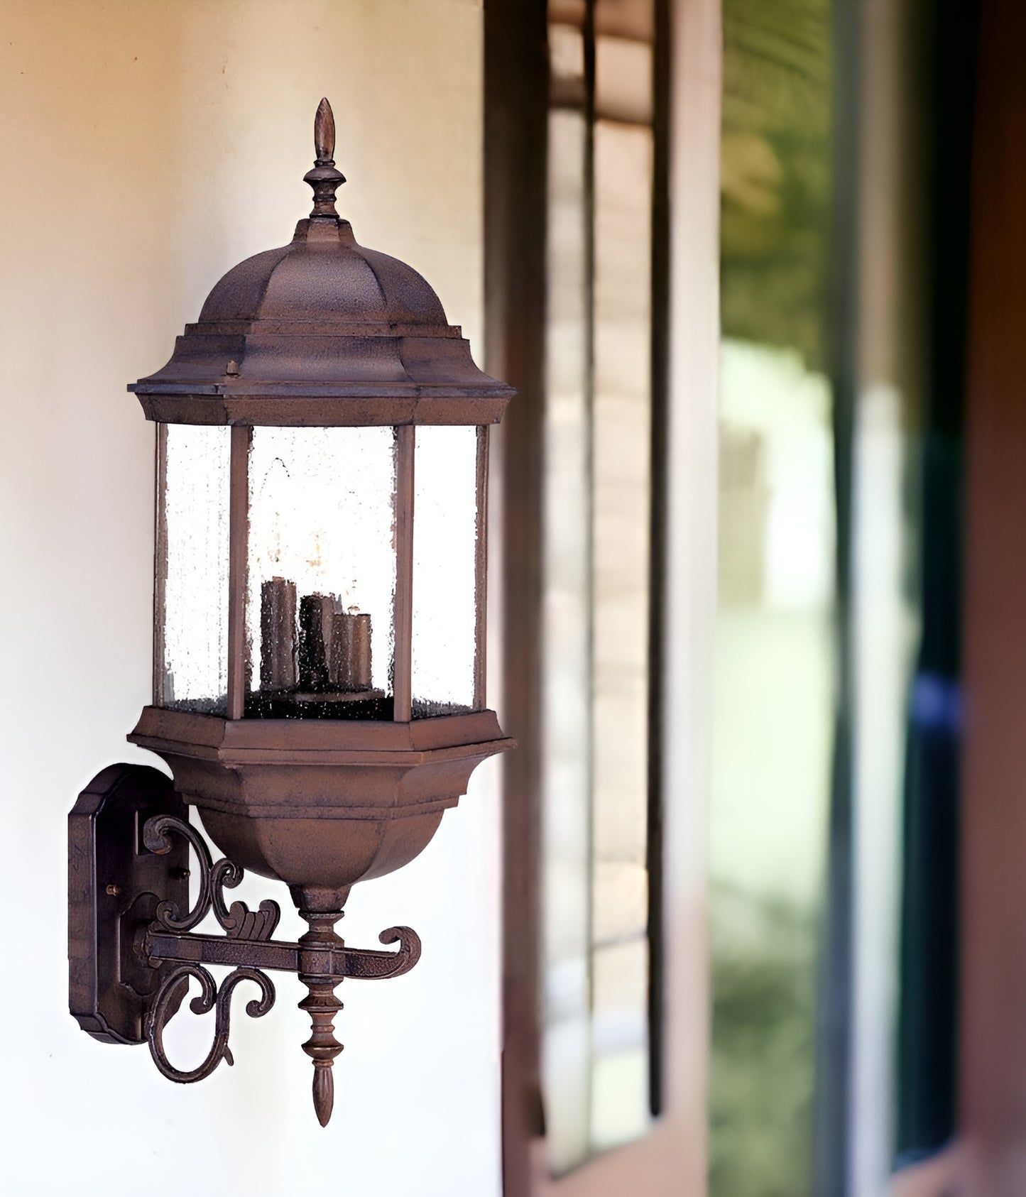
[[[226,857],[214,863],[202,836],[192,824],[174,815],[154,815],[147,819],[142,827],[142,843],[157,855],[169,852],[170,833],[189,841],[200,867],[200,892],[195,906],[184,915],[177,903],[168,899],[162,901],[157,906],[156,922],[166,931],[190,931],[213,910],[214,918],[231,938],[269,940],[281,917],[278,903],[265,898],[255,911],[241,901],[233,901],[230,907],[225,906],[221,891],[235,889],[244,876],[243,870]]]

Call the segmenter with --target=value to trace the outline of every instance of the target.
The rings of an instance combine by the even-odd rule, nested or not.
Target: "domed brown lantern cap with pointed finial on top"
[[[335,211],[327,99],[304,176],[314,208],[289,245],[217,284],[171,360],[129,385],[171,424],[494,424],[514,389],[474,365],[438,296],[405,262],[366,249]]]

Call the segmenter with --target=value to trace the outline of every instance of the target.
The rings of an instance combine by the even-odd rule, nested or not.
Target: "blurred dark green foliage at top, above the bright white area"
[[[723,333],[824,370],[830,0],[724,0],[723,72]]]

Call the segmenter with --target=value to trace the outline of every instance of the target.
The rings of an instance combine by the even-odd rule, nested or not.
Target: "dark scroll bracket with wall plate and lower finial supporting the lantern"
[[[239,901],[225,904],[223,891],[235,888],[243,870],[229,859],[212,861],[170,779],[153,768],[104,770],[79,796],[68,827],[69,1004],[83,1028],[108,1043],[146,1041],[164,1076],[193,1083],[221,1061],[233,1063],[229,1032],[236,986],[257,986],[247,1014],[261,1017],[274,1004],[267,971],[296,973],[309,990],[299,1003],[312,1023],[303,1050],[314,1062],[317,1118],[327,1125],[332,1067],[342,1050],[334,1037],[333,1020],[341,1009],[335,988],[346,978],[384,980],[409,972],[420,959],[417,934],[406,926],[382,931],[383,944],[399,944],[395,952],[348,948],[334,930],[341,910],[300,910],[306,934],[295,943],[273,940],[278,904],[265,900],[255,911]],[[192,907],[189,849],[199,867]],[[224,935],[193,930],[211,912]],[[219,986],[211,965],[232,970]],[[190,1009],[214,1011],[214,1039],[202,1063],[183,1070],[168,1059],[163,1037],[192,978],[200,983],[200,994]]]

